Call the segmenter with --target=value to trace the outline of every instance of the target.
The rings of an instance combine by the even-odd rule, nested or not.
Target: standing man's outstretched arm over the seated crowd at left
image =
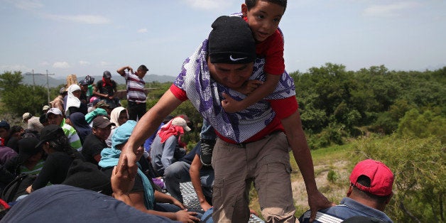
[[[146,138],[151,136],[151,134],[158,129],[158,126],[164,118],[173,112],[173,110],[181,103],[182,101],[176,98],[170,89],[168,89],[168,91],[163,94],[163,97],[161,97],[161,99],[138,121],[129,141],[127,141],[126,145],[121,150],[121,156],[126,155],[129,159],[130,168],[136,165],[136,161],[138,161],[143,154],[143,148],[138,148],[140,148]],[[119,162],[121,162],[121,159]],[[135,177],[136,171],[131,171],[130,175]]]

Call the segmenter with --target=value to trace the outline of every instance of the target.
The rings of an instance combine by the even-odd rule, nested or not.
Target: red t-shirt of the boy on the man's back
[[[248,18],[243,18],[247,21]],[[264,70],[271,75],[282,75],[285,71],[285,60],[283,60],[283,36],[278,29],[276,32],[256,43],[256,54],[266,59]]]

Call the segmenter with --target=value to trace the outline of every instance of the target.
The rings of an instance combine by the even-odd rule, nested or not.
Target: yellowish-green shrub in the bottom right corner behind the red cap
[[[434,136],[397,137],[355,142],[357,161],[382,161],[395,175],[394,196],[386,214],[398,222],[445,222],[445,144]]]

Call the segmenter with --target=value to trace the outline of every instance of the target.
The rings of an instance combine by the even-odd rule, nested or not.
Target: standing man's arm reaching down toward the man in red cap
[[[310,148],[308,148],[307,139],[302,129],[300,114],[296,110],[290,116],[281,120],[286,132],[286,138],[293,150],[293,156],[298,163],[300,173],[302,173],[305,182],[305,188],[308,195],[308,204],[311,210],[311,221],[315,218],[317,210],[331,207],[335,204],[330,202],[327,197],[317,190],[315,181],[315,170],[312,163]]]

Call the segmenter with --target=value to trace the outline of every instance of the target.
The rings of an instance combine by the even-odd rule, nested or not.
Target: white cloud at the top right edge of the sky
[[[420,4],[410,1],[397,2],[387,5],[372,5],[364,9],[363,14],[364,16],[399,16],[401,11],[404,9],[412,9],[417,6],[420,6]]]

